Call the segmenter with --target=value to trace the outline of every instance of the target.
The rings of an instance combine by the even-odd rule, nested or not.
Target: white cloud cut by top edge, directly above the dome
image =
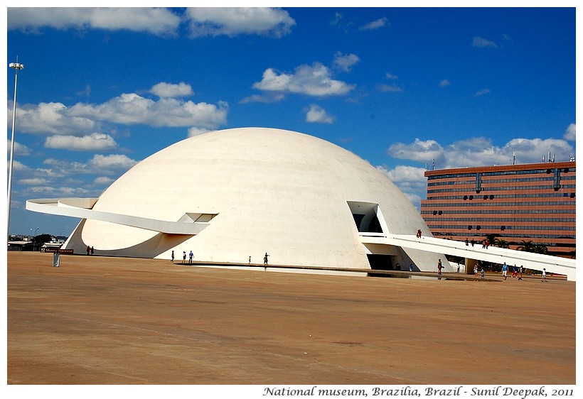
[[[272,8],[191,8],[186,9],[192,37],[240,34],[281,38],[296,24],[287,11]]]

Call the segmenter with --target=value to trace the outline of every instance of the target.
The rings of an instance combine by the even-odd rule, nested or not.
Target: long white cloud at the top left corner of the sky
[[[18,7],[7,9],[7,15],[9,31],[21,30],[30,33],[38,33],[41,28],[46,27],[59,30],[124,29],[153,35],[174,35],[181,23],[181,17],[169,9],[137,7]]]

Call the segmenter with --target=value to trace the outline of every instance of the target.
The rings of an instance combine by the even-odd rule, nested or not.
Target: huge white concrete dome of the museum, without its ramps
[[[242,128],[194,136],[119,177],[92,212],[204,224],[169,234],[83,219],[65,244],[75,253],[197,262],[436,270],[443,255],[363,244],[362,235],[430,231],[405,195],[369,163],[314,136]],[[357,223],[360,226],[357,226]],[[359,233],[360,229],[360,233]],[[371,254],[376,254],[371,255]],[[187,259],[188,260],[188,259]],[[403,267],[405,269],[405,267]]]

